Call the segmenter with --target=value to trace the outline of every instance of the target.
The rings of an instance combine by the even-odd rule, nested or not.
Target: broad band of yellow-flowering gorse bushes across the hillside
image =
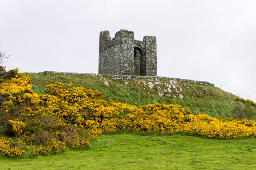
[[[10,106],[19,113],[18,117],[14,115],[18,119],[7,120],[5,126],[20,139],[19,145],[13,148],[10,139],[1,138],[2,155],[12,156],[16,149],[17,154],[13,155],[19,156],[25,153],[20,148],[33,155],[59,153],[67,147],[84,149],[98,134],[115,130],[143,135],[182,132],[222,139],[256,136],[256,122],[251,120],[229,121],[193,115],[182,106],[164,103],[136,107],[105,101],[97,90],[66,88],[60,82],[46,86],[48,95],[38,95],[32,91],[30,82],[30,76],[17,72],[15,77],[0,84],[0,93],[8,95],[0,112],[13,114]]]

